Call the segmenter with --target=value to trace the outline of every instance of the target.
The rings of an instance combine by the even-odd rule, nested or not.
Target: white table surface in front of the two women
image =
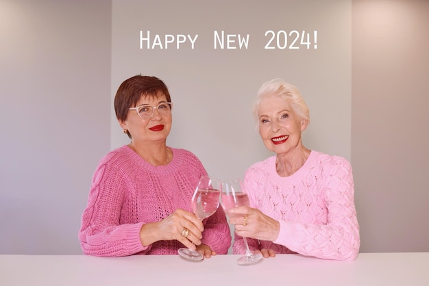
[[[429,252],[360,253],[355,261],[278,255],[247,266],[238,257],[0,255],[0,285],[429,285]]]

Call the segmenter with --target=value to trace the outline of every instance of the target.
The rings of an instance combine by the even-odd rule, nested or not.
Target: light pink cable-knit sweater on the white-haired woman
[[[311,151],[289,177],[278,176],[275,156],[251,166],[244,184],[252,207],[280,222],[274,242],[248,239],[249,247],[322,259],[353,260],[360,247],[352,167],[343,157]],[[236,235],[234,253],[244,253]]]

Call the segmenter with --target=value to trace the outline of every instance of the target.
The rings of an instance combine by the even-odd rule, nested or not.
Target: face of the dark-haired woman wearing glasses
[[[158,106],[160,103],[167,102],[167,96],[161,91],[156,95],[143,95],[136,103],[137,107],[140,105]],[[120,121],[122,129],[127,129],[130,132],[132,141],[136,144],[149,143],[149,142],[166,142],[167,136],[171,130],[172,116],[161,115],[158,109],[154,109],[154,114],[149,118],[141,118],[138,116],[136,110],[129,110],[127,118]]]

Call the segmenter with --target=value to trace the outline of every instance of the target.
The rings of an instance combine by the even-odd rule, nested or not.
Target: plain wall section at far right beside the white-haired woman
[[[363,252],[429,251],[429,1],[354,1],[352,164]]]

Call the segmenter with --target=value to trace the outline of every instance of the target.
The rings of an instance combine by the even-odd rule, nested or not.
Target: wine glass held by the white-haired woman
[[[234,181],[226,182],[223,185],[221,202],[223,210],[228,216],[231,216],[230,209],[233,209],[234,207],[249,206],[249,197],[247,196],[240,180],[236,179]],[[246,252],[245,256],[238,258],[238,265],[249,265],[262,259],[261,253],[254,254],[250,251],[246,237],[243,237],[243,242]]]

